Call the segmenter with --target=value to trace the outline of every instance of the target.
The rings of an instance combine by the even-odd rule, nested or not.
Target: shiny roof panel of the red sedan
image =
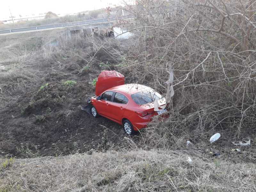
[[[152,88],[150,88],[146,85],[131,83],[131,84],[124,84],[124,85],[119,85],[119,86],[116,86],[116,87],[112,87],[111,90],[124,92],[124,93],[129,93],[129,94],[134,94],[134,93],[145,91],[145,90],[152,90]]]

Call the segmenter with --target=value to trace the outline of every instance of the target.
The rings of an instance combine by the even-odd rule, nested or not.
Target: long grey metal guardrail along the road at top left
[[[132,16],[125,15],[122,17],[109,17],[109,18],[102,18],[102,19],[95,19],[95,20],[75,21],[75,22],[68,22],[68,23],[58,23],[58,24],[49,24],[49,25],[39,25],[39,26],[33,26],[33,27],[6,29],[6,30],[0,30],[0,34],[17,33],[22,31],[38,31],[41,29],[48,29],[48,28],[64,28],[64,27],[71,27],[71,26],[114,21],[116,19],[128,19],[128,18],[132,18]]]

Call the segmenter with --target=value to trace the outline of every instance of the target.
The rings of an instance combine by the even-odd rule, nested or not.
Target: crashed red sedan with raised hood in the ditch
[[[92,116],[104,116],[123,125],[129,135],[146,127],[152,116],[167,112],[162,95],[145,85],[124,84],[124,76],[116,71],[100,73],[95,93],[88,101]]]

